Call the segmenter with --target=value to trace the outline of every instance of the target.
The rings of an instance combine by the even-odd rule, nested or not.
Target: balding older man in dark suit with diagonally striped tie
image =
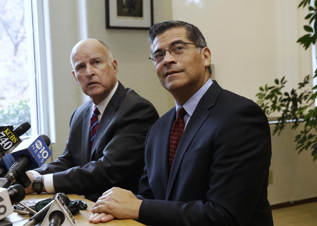
[[[63,154],[28,172],[43,189],[33,185],[27,193],[77,193],[96,201],[113,186],[137,192],[146,133],[158,119],[157,111],[117,81],[117,61],[107,44],[83,40],[74,46],[71,62],[77,83],[91,100],[73,112]],[[38,181],[36,175],[41,175]]]

